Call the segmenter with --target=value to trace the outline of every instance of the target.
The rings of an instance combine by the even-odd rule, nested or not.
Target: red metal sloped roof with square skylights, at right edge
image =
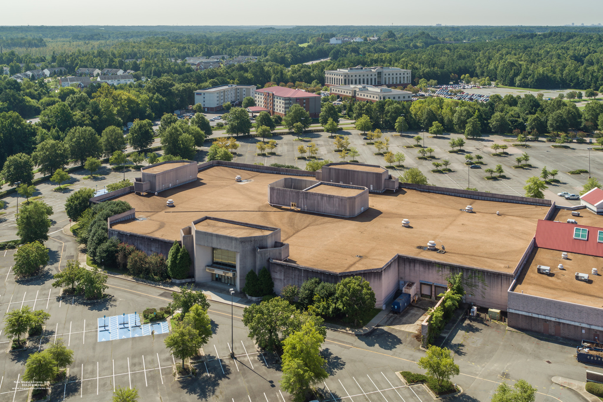
[[[588,229],[587,239],[573,238],[574,228]],[[603,228],[539,219],[536,226],[536,246],[542,249],[603,257],[603,243],[598,242],[599,231],[603,231]]]

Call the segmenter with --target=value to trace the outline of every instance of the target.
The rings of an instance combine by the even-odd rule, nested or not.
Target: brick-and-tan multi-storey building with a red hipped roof
[[[255,100],[256,106],[268,109],[271,116],[285,116],[289,111],[289,107],[293,104],[298,104],[306,109],[311,118],[320,115],[320,95],[287,88],[286,86],[258,89]]]

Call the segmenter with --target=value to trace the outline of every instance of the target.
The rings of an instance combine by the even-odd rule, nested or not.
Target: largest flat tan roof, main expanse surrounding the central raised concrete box
[[[238,174],[253,181],[241,185],[232,179]],[[281,241],[289,243],[289,260],[318,269],[379,268],[400,253],[512,273],[534,237],[537,220],[548,211],[541,206],[400,189],[371,194],[365,212],[340,218],[270,206],[268,184],[285,175],[218,166],[201,171],[198,177],[197,182],[162,191],[159,196],[129,193],[118,197],[136,208],[137,216],[147,219],[118,222],[112,227],[178,240],[180,229],[209,215],[280,228]],[[175,208],[168,208],[166,199],[173,199]],[[476,213],[459,211],[469,203]],[[403,228],[402,219],[409,219],[412,228]],[[438,241],[438,247],[443,243],[446,254],[417,249],[429,240]]]

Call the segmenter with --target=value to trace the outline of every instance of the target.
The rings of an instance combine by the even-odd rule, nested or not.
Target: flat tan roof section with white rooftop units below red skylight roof
[[[596,268],[601,275],[603,258],[574,253],[568,253],[567,258],[568,260],[563,260],[561,252],[557,250],[534,249],[526,261],[529,268],[522,270],[513,292],[520,293],[523,290],[526,295],[603,307],[603,276],[593,276],[590,273]],[[564,270],[557,268],[559,264],[563,264]],[[551,267],[551,273],[538,273],[537,265]],[[590,283],[577,281],[576,272],[587,273]]]

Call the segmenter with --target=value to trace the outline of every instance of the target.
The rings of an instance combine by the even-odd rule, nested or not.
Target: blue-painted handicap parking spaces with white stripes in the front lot
[[[169,333],[166,321],[142,324],[139,314],[98,318],[98,342]]]

